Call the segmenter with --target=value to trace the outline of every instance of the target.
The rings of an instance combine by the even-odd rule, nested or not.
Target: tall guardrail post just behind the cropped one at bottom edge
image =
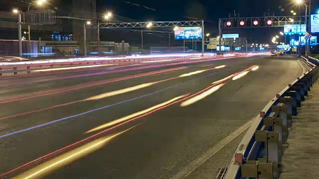
[[[273,131],[256,131],[255,132],[255,140],[258,142],[264,142],[264,146],[266,148],[266,163],[272,164],[272,175],[270,175],[270,169],[268,170],[268,174],[266,176],[260,176],[258,179],[272,179],[278,178],[278,132]],[[259,171],[261,172],[261,171]],[[270,175],[270,176],[269,176]],[[262,178],[260,178],[262,177]],[[270,177],[270,178],[269,178]]]

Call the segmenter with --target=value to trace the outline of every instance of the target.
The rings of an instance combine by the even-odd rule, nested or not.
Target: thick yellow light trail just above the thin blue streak
[[[96,95],[96,96],[89,97],[89,98],[87,98],[85,100],[102,99],[102,98],[105,98],[105,97],[110,97],[110,96],[123,94],[123,93],[130,92],[130,91],[134,91],[134,90],[150,87],[150,86],[152,86],[154,84],[157,84],[157,83],[159,83],[159,82],[146,83],[146,84],[141,84],[141,85],[137,85],[137,86],[126,88],[126,89],[119,89],[119,90],[116,90],[116,91],[106,92],[106,93],[103,93],[103,94],[99,94],[99,95]]]

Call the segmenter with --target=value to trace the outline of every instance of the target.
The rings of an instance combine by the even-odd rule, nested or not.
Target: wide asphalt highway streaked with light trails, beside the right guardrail
[[[0,178],[214,178],[304,71],[253,56],[0,78]]]

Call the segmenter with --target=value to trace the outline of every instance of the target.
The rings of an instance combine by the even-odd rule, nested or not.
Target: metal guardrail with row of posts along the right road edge
[[[317,81],[319,60],[302,57],[312,69],[274,97],[254,119],[240,142],[224,179],[277,179],[292,116]]]

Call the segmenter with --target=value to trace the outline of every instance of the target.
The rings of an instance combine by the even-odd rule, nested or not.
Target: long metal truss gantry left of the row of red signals
[[[201,26],[202,39],[205,38],[204,21],[150,21],[150,22],[107,22],[107,23],[84,23],[84,55],[87,55],[86,50],[86,29],[99,29],[103,28],[154,28],[154,27],[187,27],[187,26]],[[142,31],[143,32],[143,31]],[[99,33],[98,33],[99,36]],[[98,37],[99,39],[99,37]],[[142,39],[143,40],[143,39]],[[205,42],[202,40],[202,53],[204,54]]]

